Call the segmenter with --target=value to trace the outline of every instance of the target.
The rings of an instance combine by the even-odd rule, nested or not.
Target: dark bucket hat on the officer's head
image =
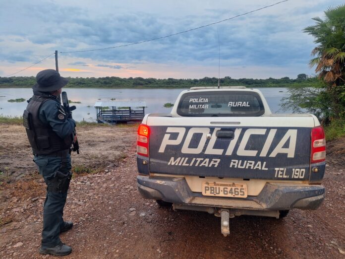
[[[54,69],[45,69],[36,75],[37,83],[32,89],[41,92],[52,92],[65,86],[68,80],[58,73]]]

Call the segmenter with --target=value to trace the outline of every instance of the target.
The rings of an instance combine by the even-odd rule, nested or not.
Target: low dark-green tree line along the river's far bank
[[[217,86],[218,78],[204,77],[201,79],[156,79],[156,78],[142,78],[129,77],[120,78],[115,76],[107,77],[77,77],[68,78],[67,87],[79,88],[189,88],[194,86]],[[308,86],[317,81],[316,78],[307,78],[306,74],[299,74],[296,79],[289,77],[282,77],[280,79],[253,79],[240,78],[233,79],[230,76],[220,78],[221,86],[247,86],[247,87],[290,87],[293,84],[301,86]],[[0,88],[8,87],[31,87],[35,84],[35,77],[26,76],[12,76],[0,77]],[[115,98],[113,98],[115,100]],[[101,100],[101,99],[98,99]],[[111,99],[112,100],[112,99]]]

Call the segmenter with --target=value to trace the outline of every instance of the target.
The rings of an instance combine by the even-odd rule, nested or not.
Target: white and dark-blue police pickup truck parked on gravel
[[[325,197],[325,134],[311,114],[272,114],[257,89],[192,87],[138,129],[138,190],[173,209],[284,217]]]

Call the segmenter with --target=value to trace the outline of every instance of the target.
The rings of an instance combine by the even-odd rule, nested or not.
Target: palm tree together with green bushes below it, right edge
[[[309,65],[316,66],[319,82],[291,87],[282,107],[315,114],[330,140],[345,135],[345,4],[329,7],[324,13],[324,20],[314,17],[316,24],[304,29],[318,44]]]

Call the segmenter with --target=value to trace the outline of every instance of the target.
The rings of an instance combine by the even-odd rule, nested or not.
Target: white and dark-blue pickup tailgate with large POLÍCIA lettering
[[[149,116],[147,125],[150,127],[151,173],[238,179],[309,179],[312,116]]]

